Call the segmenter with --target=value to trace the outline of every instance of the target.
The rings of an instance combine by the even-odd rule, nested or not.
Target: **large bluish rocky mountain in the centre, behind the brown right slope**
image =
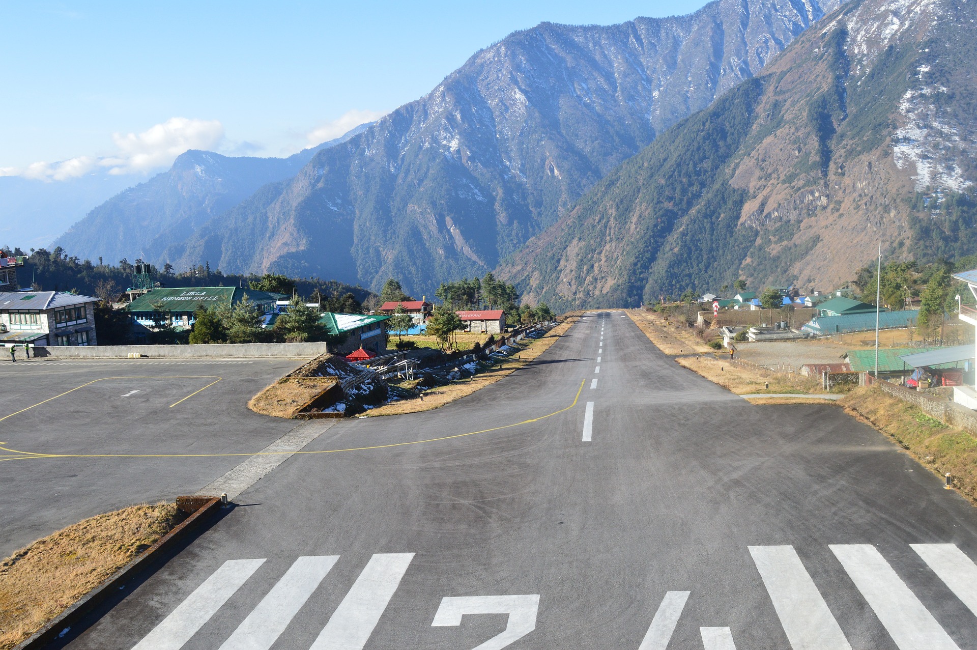
[[[542,23],[292,179],[172,242],[178,268],[319,275],[412,293],[483,274],[659,132],[749,78],[837,0],[717,0],[612,26]]]

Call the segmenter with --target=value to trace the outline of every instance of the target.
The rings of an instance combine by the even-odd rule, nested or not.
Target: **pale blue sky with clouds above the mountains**
[[[514,30],[702,4],[7,2],[0,175],[149,173],[188,148],[289,154],[420,97]]]

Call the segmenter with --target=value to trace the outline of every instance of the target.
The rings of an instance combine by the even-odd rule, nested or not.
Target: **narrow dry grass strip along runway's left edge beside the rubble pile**
[[[541,338],[523,339],[526,349],[518,353],[515,357],[506,359],[502,364],[483,370],[469,379],[452,381],[445,386],[439,386],[430,391],[425,391],[421,397],[412,400],[401,400],[392,404],[385,404],[382,407],[371,409],[366,415],[400,415],[403,413],[416,413],[431,411],[443,407],[450,402],[459,400],[471,395],[477,390],[485,388],[488,384],[495,383],[503,377],[507,377],[519,368],[526,368],[533,359],[549,349],[551,345],[567,332],[576,323],[577,318],[571,317],[549,330]]]

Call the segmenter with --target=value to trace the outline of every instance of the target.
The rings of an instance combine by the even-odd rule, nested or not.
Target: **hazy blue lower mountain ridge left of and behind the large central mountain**
[[[81,258],[142,258],[161,266],[168,245],[190,237],[262,186],[293,177],[316,152],[346,142],[365,127],[286,158],[182,153],[168,171],[91,210],[54,245]]]

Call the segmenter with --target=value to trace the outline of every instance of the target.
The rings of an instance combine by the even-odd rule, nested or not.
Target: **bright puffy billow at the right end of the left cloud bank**
[[[103,158],[100,165],[109,174],[145,172],[173,163],[178,155],[191,149],[213,150],[224,139],[219,121],[170,117],[140,134],[112,135],[119,152]]]

